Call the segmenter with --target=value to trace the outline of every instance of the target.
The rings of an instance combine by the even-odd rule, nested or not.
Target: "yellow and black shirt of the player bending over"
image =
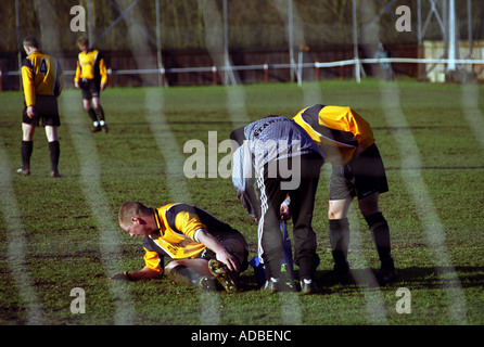
[[[317,104],[300,111],[293,120],[334,165],[347,164],[358,146],[367,149],[374,143],[368,121],[347,106]]]

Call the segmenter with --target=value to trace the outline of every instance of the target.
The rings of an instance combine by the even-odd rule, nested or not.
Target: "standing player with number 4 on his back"
[[[30,156],[34,150],[34,132],[42,126],[49,142],[51,177],[60,177],[61,146],[58,127],[61,125],[58,98],[62,92],[62,69],[58,60],[40,51],[37,39],[27,36],[23,41],[27,57],[22,63],[24,112],[22,118],[22,167],[17,174],[30,175]],[[41,120],[41,123],[40,123]]]

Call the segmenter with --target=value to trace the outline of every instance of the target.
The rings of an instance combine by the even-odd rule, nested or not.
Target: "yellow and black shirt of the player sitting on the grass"
[[[162,272],[163,258],[193,259],[199,257],[206,246],[196,241],[199,230],[206,230],[217,240],[237,237],[246,247],[245,239],[235,229],[218,220],[207,211],[183,203],[168,204],[153,209],[160,228],[144,237],[143,248],[145,266]]]

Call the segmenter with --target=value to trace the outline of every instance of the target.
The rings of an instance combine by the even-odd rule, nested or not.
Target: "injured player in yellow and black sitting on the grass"
[[[175,283],[227,292],[237,291],[237,278],[247,268],[247,243],[229,224],[184,203],[149,208],[139,202],[119,208],[119,227],[143,236],[145,266],[120,272],[113,280],[148,280],[166,273]],[[164,267],[164,258],[173,259]]]

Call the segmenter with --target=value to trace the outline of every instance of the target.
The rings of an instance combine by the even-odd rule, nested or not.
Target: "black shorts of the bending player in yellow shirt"
[[[333,166],[329,190],[330,200],[355,196],[361,200],[373,193],[387,191],[385,167],[374,143],[345,166]]]

